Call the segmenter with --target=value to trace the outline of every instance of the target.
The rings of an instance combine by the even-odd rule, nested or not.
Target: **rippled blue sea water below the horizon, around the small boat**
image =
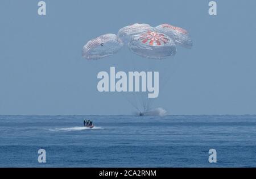
[[[0,116],[0,166],[256,167],[256,115]]]

